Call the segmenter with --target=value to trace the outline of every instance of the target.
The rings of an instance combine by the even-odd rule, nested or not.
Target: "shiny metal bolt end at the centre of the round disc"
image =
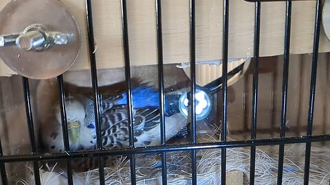
[[[45,43],[45,36],[38,31],[27,32],[26,34],[21,34],[16,39],[16,45],[24,49],[25,51],[30,51],[42,47]]]

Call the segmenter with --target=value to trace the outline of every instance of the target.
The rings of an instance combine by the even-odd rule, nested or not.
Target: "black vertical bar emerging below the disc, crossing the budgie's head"
[[[59,75],[57,77],[58,82],[58,90],[60,91],[60,106],[61,106],[61,122],[62,122],[62,132],[63,132],[63,144],[64,149],[67,153],[70,152],[70,145],[69,145],[69,134],[67,132],[67,111],[65,106],[65,92],[63,86],[63,75]],[[67,158],[67,184],[74,184],[72,178],[72,166],[71,166],[71,159]]]

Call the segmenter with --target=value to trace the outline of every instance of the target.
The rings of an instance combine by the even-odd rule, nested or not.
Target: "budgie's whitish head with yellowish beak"
[[[74,97],[68,97],[66,99],[65,108],[67,114],[67,132],[70,143],[74,144],[80,138],[80,129],[84,123],[86,112],[83,103],[74,99]],[[58,123],[61,123],[61,111],[57,112],[56,119]]]

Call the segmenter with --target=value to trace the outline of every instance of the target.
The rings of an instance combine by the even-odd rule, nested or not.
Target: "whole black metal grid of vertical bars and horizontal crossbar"
[[[34,138],[34,123],[32,119],[32,108],[30,102],[30,87],[29,79],[23,77],[23,90],[25,97],[25,108],[28,119],[28,130],[30,134],[30,142],[32,146],[31,155],[21,156],[3,156],[0,141],[0,171],[1,180],[3,184],[8,184],[8,178],[5,171],[6,162],[21,162],[21,161],[32,161],[34,164],[34,178],[36,184],[41,184],[39,175],[39,160],[67,160],[67,183],[73,184],[72,179],[72,168],[71,159],[80,158],[84,156],[98,157],[100,160],[100,184],[104,184],[104,161],[103,156],[111,155],[127,155],[130,159],[131,165],[131,183],[135,184],[135,154],[137,153],[162,153],[162,182],[167,184],[166,175],[166,152],[168,151],[179,151],[179,150],[190,150],[192,151],[192,184],[197,184],[197,171],[196,171],[196,151],[199,149],[221,149],[221,184],[225,184],[225,168],[226,168],[226,149],[230,147],[250,147],[250,184],[254,184],[254,173],[255,173],[255,157],[256,157],[256,146],[260,145],[278,145],[278,177],[277,184],[282,184],[283,180],[283,158],[284,158],[284,147],[288,143],[306,143],[305,151],[305,177],[304,184],[309,183],[309,165],[311,157],[311,143],[318,141],[330,140],[330,134],[314,136],[312,134],[313,129],[313,115],[314,115],[314,100],[316,92],[316,73],[318,64],[318,47],[320,39],[320,24],[321,24],[321,0],[316,0],[316,18],[314,28],[314,47],[313,47],[313,58],[311,68],[311,82],[310,82],[310,97],[309,97],[309,114],[307,123],[307,135],[301,137],[286,137],[285,136],[285,122],[287,112],[287,85],[288,85],[288,74],[289,74],[289,46],[290,46],[290,32],[291,32],[291,16],[292,16],[292,1],[286,0],[286,21],[285,21],[285,45],[284,45],[284,70],[283,70],[283,89],[282,89],[282,106],[281,106],[281,134],[279,138],[267,138],[257,139],[256,138],[256,127],[257,127],[257,101],[258,101],[258,76],[259,76],[259,40],[260,40],[260,18],[261,18],[261,2],[270,0],[246,0],[255,3],[255,26],[254,26],[254,73],[253,73],[253,87],[252,87],[252,131],[250,140],[237,140],[227,141],[226,127],[227,127],[227,66],[228,66],[228,16],[229,16],[229,0],[223,0],[223,77],[222,77],[222,90],[221,90],[221,106],[223,114],[221,114],[221,141],[214,143],[197,143],[196,142],[196,115],[195,115],[195,90],[196,90],[196,77],[195,77],[195,0],[190,1],[190,90],[192,95],[190,96],[191,103],[191,132],[192,138],[190,143],[186,145],[166,145],[165,140],[165,125],[164,125],[164,72],[163,72],[163,48],[162,48],[162,4],[161,0],[155,0],[156,6],[156,23],[157,23],[157,60],[158,60],[158,80],[159,80],[159,102],[161,112],[161,145],[156,147],[134,147],[133,143],[133,124],[129,127],[129,148],[128,149],[111,149],[106,150],[102,147],[101,134],[100,134],[100,111],[99,111],[99,99],[100,93],[98,91],[98,75],[96,67],[96,56],[94,51],[94,30],[93,30],[93,18],[91,0],[85,0],[86,10],[86,22],[88,32],[88,43],[89,43],[89,60],[91,62],[91,79],[92,86],[94,89],[94,110],[96,118],[96,131],[97,131],[97,149],[96,151],[84,151],[84,152],[70,152],[69,151],[69,140],[67,133],[67,118],[65,114],[65,91],[63,88],[63,77],[58,76],[58,86],[60,90],[61,100],[61,118],[63,122],[63,138],[65,152],[54,153],[52,155],[46,155],[45,153],[38,153],[36,151],[36,140]],[[274,0],[272,0],[274,1]],[[285,0],[277,0],[285,1]],[[303,0],[300,0],[303,1]],[[127,85],[127,110],[129,112],[129,123],[133,120],[132,115],[132,93],[131,93],[131,71],[130,71],[130,58],[129,58],[129,36],[128,36],[128,25],[127,25],[127,8],[126,0],[121,0],[121,13],[122,13],[122,34],[124,44],[124,64],[125,64],[125,77]]]

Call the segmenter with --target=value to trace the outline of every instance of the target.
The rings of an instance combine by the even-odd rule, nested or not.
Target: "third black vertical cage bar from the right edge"
[[[253,92],[252,92],[252,127],[251,139],[256,139],[256,119],[257,119],[257,103],[258,103],[258,79],[259,79],[259,44],[260,44],[260,12],[261,3],[255,3],[255,23],[254,23],[254,72],[253,72]],[[250,184],[254,185],[254,173],[256,169],[256,146],[251,147],[250,157]]]

